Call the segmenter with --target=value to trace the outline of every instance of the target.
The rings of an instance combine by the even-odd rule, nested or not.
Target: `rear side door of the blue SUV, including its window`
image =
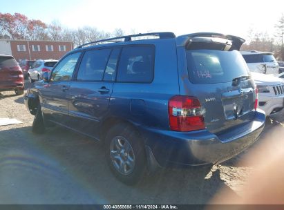
[[[70,126],[98,137],[98,125],[108,111],[120,48],[87,50],[68,95]]]

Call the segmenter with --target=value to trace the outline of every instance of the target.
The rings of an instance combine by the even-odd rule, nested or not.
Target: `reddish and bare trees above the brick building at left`
[[[121,28],[113,32],[104,32],[97,28],[64,28],[57,21],[46,24],[38,19],[28,19],[26,15],[0,12],[0,39],[23,39],[33,41],[72,41],[75,46],[89,41],[119,37],[124,35]]]

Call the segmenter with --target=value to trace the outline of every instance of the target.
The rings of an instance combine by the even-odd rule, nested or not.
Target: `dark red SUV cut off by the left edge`
[[[23,94],[23,71],[12,55],[0,55],[0,91],[8,90]]]

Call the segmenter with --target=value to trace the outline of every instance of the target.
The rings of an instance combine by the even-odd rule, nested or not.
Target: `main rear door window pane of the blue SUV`
[[[78,81],[101,81],[110,49],[86,51],[77,74]]]

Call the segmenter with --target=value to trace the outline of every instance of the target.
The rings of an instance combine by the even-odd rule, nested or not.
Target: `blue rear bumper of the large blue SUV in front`
[[[143,128],[150,164],[160,166],[198,166],[233,158],[258,139],[265,126],[265,114],[255,113],[254,121],[217,136],[207,130],[194,132],[161,131]]]

